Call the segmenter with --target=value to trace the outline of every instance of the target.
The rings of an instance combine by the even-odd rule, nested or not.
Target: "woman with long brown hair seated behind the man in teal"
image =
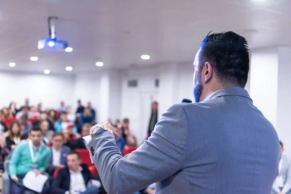
[[[6,137],[6,148],[10,151],[19,145],[21,140],[24,140],[20,124],[17,121],[12,121],[8,129],[8,136]]]

